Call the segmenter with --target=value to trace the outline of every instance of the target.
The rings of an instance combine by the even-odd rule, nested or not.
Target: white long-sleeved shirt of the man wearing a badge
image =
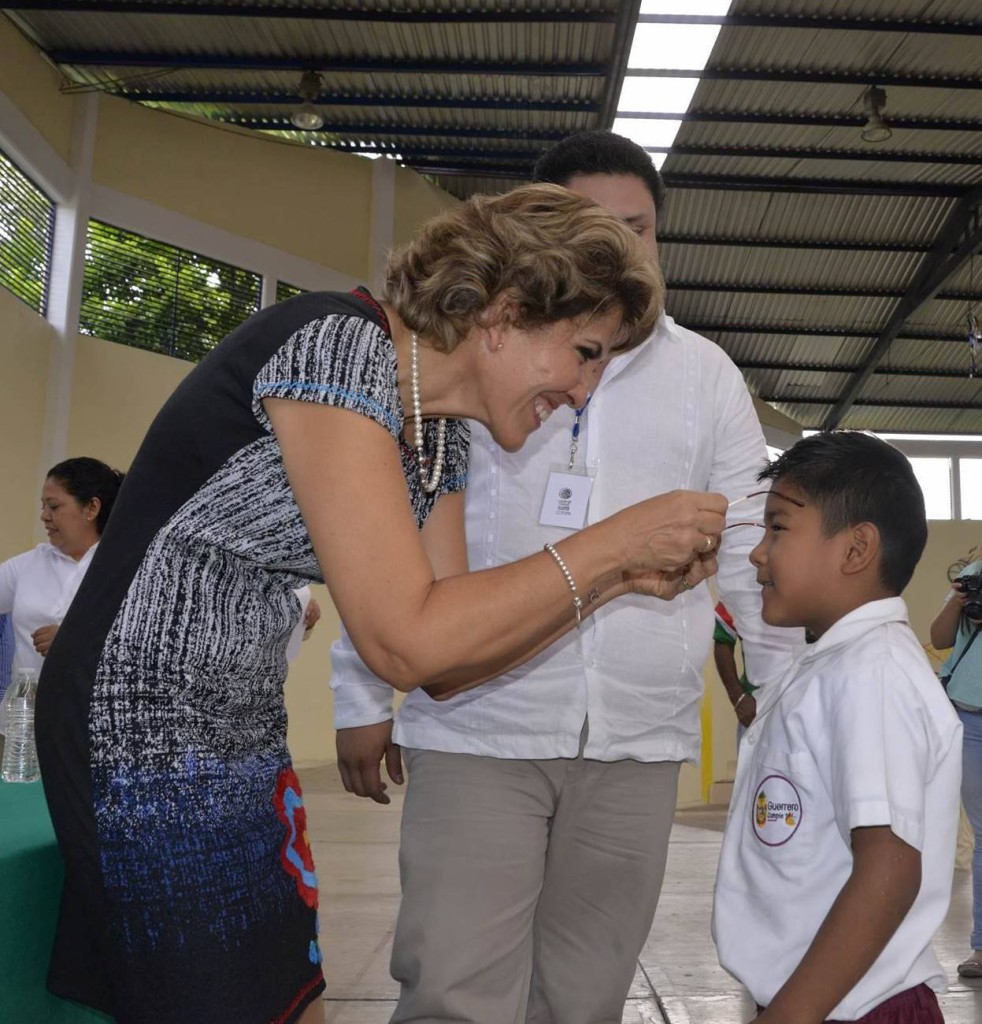
[[[541,525],[539,516],[550,469],[568,463],[572,422],[572,410],[557,410],[511,454],[474,424],[466,513],[472,569],[523,558],[569,536]],[[718,345],[664,315],[645,344],[607,368],[575,457],[578,468],[594,474],[589,522],[676,487],[740,498],[761,490],[757,474],[766,462],[739,370]],[[740,505],[738,518],[760,519],[763,504],[761,497]],[[725,532],[716,582],[743,638],[748,672],[766,685],[804,648],[804,635],[761,620],[761,589],[748,560],[759,540],[754,527]],[[444,701],[410,693],[395,739],[483,757],[572,758],[589,718],[584,754],[591,760],[694,760],[713,605],[706,585],[674,601],[618,598],[499,679]],[[391,718],[392,688],[372,675],[346,637],[335,644],[332,663],[338,728]]]

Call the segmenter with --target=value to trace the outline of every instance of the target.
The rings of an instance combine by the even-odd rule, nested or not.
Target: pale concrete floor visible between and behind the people
[[[300,770],[321,881],[328,1024],[387,1024],[397,987],[388,974],[398,910],[399,791],[380,807],[343,792],[334,765]],[[742,1024],[753,1004],[717,964],[710,939],[713,879],[724,812],[683,811],[672,831],[654,927],[641,951],[623,1024]],[[968,955],[971,878],[956,871],[935,947],[948,973],[948,1024],[982,1022],[982,981],[960,981]]]

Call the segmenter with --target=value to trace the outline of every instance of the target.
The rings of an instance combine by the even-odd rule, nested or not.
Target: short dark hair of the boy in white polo
[[[928,540],[924,495],[906,456],[858,430],[805,437],[761,471],[794,484],[818,506],[826,537],[859,522],[880,530],[880,581],[899,594]]]

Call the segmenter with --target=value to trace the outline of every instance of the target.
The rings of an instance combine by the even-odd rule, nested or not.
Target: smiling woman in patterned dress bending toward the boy
[[[121,1024],[321,1019],[283,700],[296,588],[326,582],[379,676],[442,696],[620,595],[674,597],[715,571],[726,501],[693,493],[467,571],[465,420],[519,447],[585,402],[660,300],[617,218],[528,186],[428,223],[392,257],[381,301],[291,299],[186,377],[41,679],[66,859],[54,992]]]

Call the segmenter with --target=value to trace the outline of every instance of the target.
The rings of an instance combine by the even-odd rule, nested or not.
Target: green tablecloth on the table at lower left
[[[0,781],[0,1021],[112,1021],[44,987],[63,877],[41,783]]]

